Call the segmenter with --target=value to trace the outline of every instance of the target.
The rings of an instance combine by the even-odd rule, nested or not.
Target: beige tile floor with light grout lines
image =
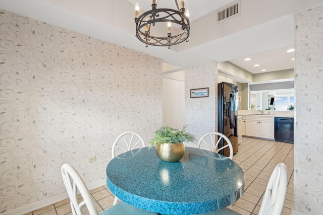
[[[288,168],[288,188],[282,214],[291,214],[293,207],[293,176],[294,176],[294,145],[263,139],[243,137],[239,144],[239,151],[233,160],[245,172],[246,180],[244,193],[233,205],[232,209],[245,214],[258,214],[262,195],[275,166],[283,162]],[[111,207],[114,196],[106,186],[90,191],[99,212]],[[69,199],[51,204],[25,215],[72,215]],[[87,212],[85,211],[84,215]]]

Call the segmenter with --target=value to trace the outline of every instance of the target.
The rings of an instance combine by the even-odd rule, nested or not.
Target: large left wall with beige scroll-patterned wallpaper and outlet
[[[0,10],[0,213],[65,192],[65,162],[104,180],[114,139],[147,144],[161,108],[161,59]]]

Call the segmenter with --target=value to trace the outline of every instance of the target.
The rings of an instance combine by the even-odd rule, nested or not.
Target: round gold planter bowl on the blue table
[[[185,154],[185,145],[180,144],[158,144],[156,155],[163,161],[176,162],[181,160]]]

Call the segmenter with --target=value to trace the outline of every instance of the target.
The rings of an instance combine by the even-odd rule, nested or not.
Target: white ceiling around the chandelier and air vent
[[[0,9],[115,43],[163,59],[179,67],[210,61],[230,61],[250,73],[294,67],[294,14],[323,0],[240,0],[240,15],[216,24],[215,10],[231,0],[186,0],[190,11],[188,42],[171,49],[145,47],[135,35],[134,5],[149,10],[147,0],[1,0]],[[178,0],[180,2],[180,0]],[[173,0],[159,0],[158,8],[173,8]],[[252,60],[244,61],[245,57]],[[254,64],[260,64],[254,67]],[[240,79],[240,81],[243,81]]]

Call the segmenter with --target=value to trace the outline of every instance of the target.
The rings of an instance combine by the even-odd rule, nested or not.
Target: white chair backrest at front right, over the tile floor
[[[269,181],[263,200],[260,205],[259,215],[280,215],[285,201],[287,191],[287,167],[283,163],[279,163]]]

